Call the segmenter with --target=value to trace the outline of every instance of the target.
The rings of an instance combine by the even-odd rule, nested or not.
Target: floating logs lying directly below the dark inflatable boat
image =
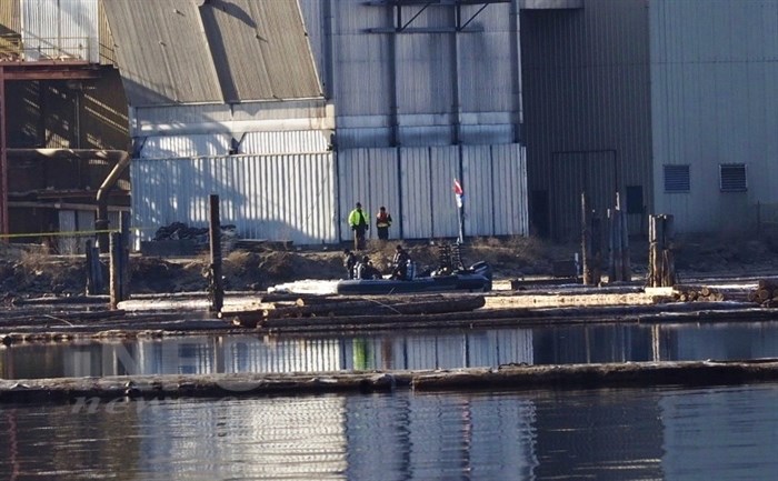
[[[263,299],[265,301],[265,299]],[[311,295],[293,302],[263,304],[262,309],[225,311],[220,319],[241,327],[267,327],[273,320],[301,318],[380,318],[382,315],[425,315],[473,311],[486,304],[478,294],[413,294],[413,295]]]

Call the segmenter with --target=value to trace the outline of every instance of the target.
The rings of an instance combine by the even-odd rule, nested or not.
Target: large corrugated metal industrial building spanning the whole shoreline
[[[453,238],[453,179],[479,237],[577,239],[584,191],[602,216],[618,193],[634,234],[778,204],[778,0],[142,4],[0,2],[4,232],[130,210],[143,240],[205,226],[216,193],[243,238],[337,243],[357,201],[391,238]]]

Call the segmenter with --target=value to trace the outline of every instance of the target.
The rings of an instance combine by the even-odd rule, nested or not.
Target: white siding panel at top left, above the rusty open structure
[[[27,60],[99,62],[97,0],[24,0],[21,7]]]

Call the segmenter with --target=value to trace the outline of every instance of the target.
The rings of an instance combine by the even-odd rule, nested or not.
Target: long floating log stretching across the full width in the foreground
[[[161,374],[106,378],[0,380],[0,403],[68,402],[71,412],[96,410],[101,402],[111,410],[133,404],[128,398],[225,398],[286,393],[391,392],[531,389],[601,389],[609,387],[720,385],[776,382],[778,360],[618,362],[571,365],[501,365],[457,370],[385,371],[353,373],[230,373]],[[118,403],[116,401],[122,401]]]

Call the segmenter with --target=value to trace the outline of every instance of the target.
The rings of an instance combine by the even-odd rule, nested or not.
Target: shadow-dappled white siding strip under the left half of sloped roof
[[[143,139],[140,157],[142,159],[172,159],[227,156],[231,141],[232,136],[225,133],[148,137]]]

